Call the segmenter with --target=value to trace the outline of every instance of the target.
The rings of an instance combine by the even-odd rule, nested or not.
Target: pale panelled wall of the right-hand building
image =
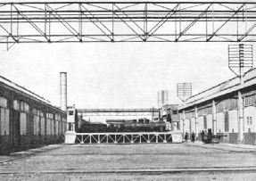
[[[200,133],[204,128],[204,119],[206,118],[207,128],[213,131],[213,115],[207,114],[206,116],[198,117],[199,140],[201,139]],[[238,109],[225,110],[217,112],[217,135],[222,136],[220,142],[239,144],[238,128],[239,116]],[[182,126],[183,124],[181,124]],[[185,132],[190,135],[195,132],[195,118],[185,119]],[[244,107],[244,144],[256,144],[256,107],[254,105]]]

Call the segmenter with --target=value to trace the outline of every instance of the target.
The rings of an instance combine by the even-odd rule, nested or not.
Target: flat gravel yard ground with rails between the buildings
[[[242,169],[246,170],[239,171]],[[221,144],[59,144],[54,149],[0,163],[0,180],[255,180],[255,177],[256,149]]]

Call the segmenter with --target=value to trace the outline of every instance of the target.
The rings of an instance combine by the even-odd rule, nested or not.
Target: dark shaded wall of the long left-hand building
[[[44,113],[37,114],[34,110]],[[63,120],[67,116],[66,112],[0,82],[0,155],[62,142],[63,132],[45,135],[44,130],[49,128],[43,127],[45,119],[43,124],[39,123],[39,117],[45,118],[46,112],[58,113]]]

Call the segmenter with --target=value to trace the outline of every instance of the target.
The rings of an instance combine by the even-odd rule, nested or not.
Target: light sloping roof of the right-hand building
[[[256,69],[249,70],[244,75],[244,87],[246,86],[252,86],[253,81],[256,79]],[[197,103],[202,103],[207,100],[210,100],[214,97],[218,97],[219,95],[226,95],[228,93],[231,93],[237,89],[240,89],[240,78],[231,78],[227,80],[226,82],[223,82],[219,84],[218,86],[213,86],[210,89],[207,89],[197,95],[193,95],[192,97],[186,99],[184,104],[180,104],[178,106],[178,110],[185,109],[186,107],[195,105]]]

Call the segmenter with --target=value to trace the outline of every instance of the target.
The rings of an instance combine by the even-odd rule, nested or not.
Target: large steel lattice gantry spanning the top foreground
[[[255,42],[256,2],[0,3],[0,43]]]

